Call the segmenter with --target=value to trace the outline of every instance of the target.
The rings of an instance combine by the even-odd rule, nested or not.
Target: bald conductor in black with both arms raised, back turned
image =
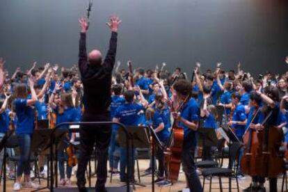
[[[79,19],[81,26],[79,70],[84,88],[83,104],[85,111],[82,118],[82,121],[84,122],[111,120],[109,110],[111,103],[111,79],[115,63],[118,26],[120,22],[118,17],[111,17],[110,22],[107,23],[112,33],[109,51],[104,62],[102,62],[102,54],[98,50],[91,51],[89,56],[87,56],[86,32],[89,25],[85,18]],[[77,170],[77,186],[79,191],[87,191],[85,187],[85,171],[95,142],[99,152],[99,156],[97,157],[97,182],[95,191],[106,191],[106,163],[108,159],[110,137],[111,126],[80,127],[81,153]]]

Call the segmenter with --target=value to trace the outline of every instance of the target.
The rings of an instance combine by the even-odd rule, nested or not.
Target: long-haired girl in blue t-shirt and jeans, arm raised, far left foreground
[[[14,191],[22,188],[21,178],[25,175],[25,186],[29,188],[38,188],[38,184],[31,182],[30,177],[30,152],[31,136],[34,129],[34,111],[31,106],[38,101],[34,90],[34,81],[29,79],[29,88],[31,90],[31,99],[28,99],[28,90],[26,85],[19,84],[15,88],[14,108],[16,112],[16,130],[15,134],[19,142],[20,158],[17,167],[17,179],[14,184]]]

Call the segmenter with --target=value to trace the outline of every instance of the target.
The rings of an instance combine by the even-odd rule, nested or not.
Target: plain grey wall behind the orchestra
[[[0,56],[9,70],[33,61],[77,63],[84,0],[1,0]],[[241,61],[253,73],[288,69],[288,6],[282,0],[94,0],[88,49],[106,53],[106,19],[122,19],[118,60],[191,71],[196,61],[225,69]],[[125,65],[126,67],[126,65]]]

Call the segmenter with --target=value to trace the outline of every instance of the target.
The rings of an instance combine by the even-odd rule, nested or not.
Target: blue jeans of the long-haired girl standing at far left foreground
[[[17,177],[24,175],[30,175],[30,154],[31,154],[31,135],[30,134],[18,134],[17,135],[20,159],[17,167]]]

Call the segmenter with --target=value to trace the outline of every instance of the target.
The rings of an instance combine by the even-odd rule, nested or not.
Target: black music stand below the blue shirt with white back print
[[[131,138],[130,141],[131,141],[132,157],[134,157],[134,150],[133,150],[134,148],[150,148],[149,136],[144,127],[127,126],[127,131]],[[120,127],[118,130],[118,136],[119,136],[120,147],[126,148],[127,147],[126,134],[125,134],[125,131],[122,129],[122,127]],[[130,161],[130,159],[127,159],[127,161]],[[134,168],[132,168],[132,175],[134,175]],[[127,173],[127,177],[129,179],[129,173]],[[133,181],[134,189],[135,189],[135,185],[145,186],[144,184],[136,183],[135,181]]]

